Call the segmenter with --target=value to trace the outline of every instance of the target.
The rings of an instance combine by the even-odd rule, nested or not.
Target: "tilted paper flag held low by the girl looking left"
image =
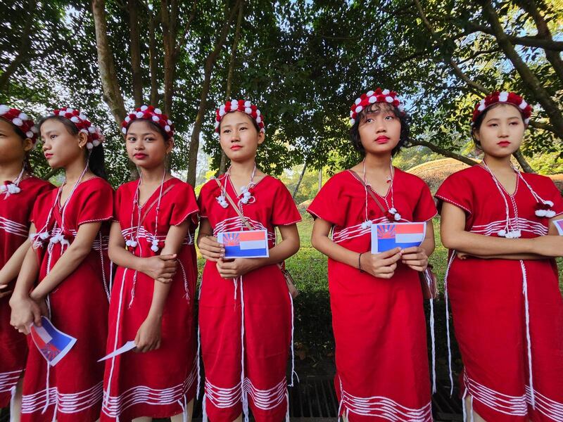
[[[72,349],[76,338],[56,329],[46,316],[41,317],[41,323],[40,327],[31,324],[31,337],[47,363],[55,366]]]

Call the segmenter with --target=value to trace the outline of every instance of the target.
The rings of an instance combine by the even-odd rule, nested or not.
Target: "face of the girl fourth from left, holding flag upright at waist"
[[[264,142],[264,132],[256,131],[252,117],[235,111],[223,116],[219,141],[225,155],[231,161],[253,160],[258,145]]]

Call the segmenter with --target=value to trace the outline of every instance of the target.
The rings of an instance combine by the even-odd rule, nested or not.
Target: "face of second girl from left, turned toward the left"
[[[58,119],[48,119],[41,125],[43,153],[53,169],[66,167],[75,160],[84,159],[88,136],[82,132],[73,135]]]

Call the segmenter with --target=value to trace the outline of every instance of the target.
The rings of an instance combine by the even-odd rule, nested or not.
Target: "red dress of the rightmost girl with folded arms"
[[[481,165],[452,174],[436,193],[464,210],[466,231],[519,231],[522,238],[548,234],[536,196],[563,213],[548,177],[521,174],[510,195]],[[563,300],[555,260],[460,260],[454,250],[445,283],[464,364],[462,394],[472,397],[476,413],[486,421],[563,421]]]

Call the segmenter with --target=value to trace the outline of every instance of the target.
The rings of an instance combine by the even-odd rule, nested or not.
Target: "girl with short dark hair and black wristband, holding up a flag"
[[[312,245],[329,257],[339,416],[431,421],[419,271],[434,251],[436,207],[424,181],[391,162],[409,134],[397,94],[362,94],[350,117],[364,160],[331,177],[308,208]],[[370,227],[385,222],[424,222],[426,238],[420,247],[372,255]]]

